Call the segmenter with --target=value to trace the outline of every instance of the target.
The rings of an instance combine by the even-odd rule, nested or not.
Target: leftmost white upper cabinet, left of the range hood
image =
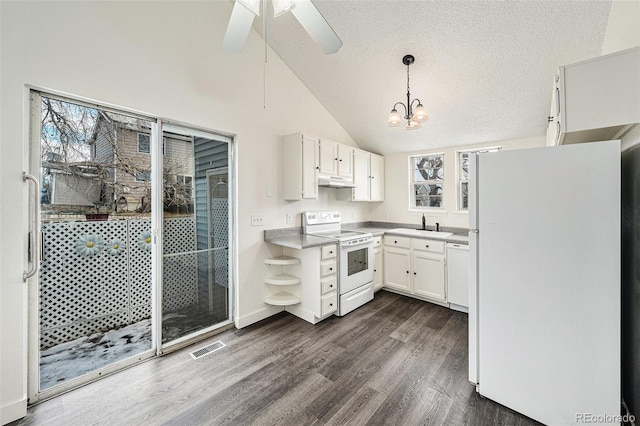
[[[320,139],[308,133],[284,137],[284,199],[318,198],[318,144]]]

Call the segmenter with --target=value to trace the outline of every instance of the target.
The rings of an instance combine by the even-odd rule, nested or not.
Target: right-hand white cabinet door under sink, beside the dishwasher
[[[413,292],[419,296],[446,302],[444,256],[414,252],[411,264]]]

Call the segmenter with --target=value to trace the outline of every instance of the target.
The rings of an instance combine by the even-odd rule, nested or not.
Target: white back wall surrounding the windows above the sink
[[[444,152],[444,211],[425,212],[427,225],[435,222],[440,226],[469,227],[469,215],[457,212],[456,194],[456,151],[481,147],[501,146],[503,150],[524,149],[545,146],[543,136],[483,143],[478,145],[457,146],[445,149],[422,150],[385,156],[385,200],[375,205],[371,211],[371,220],[395,223],[421,224],[422,212],[409,211],[409,156]]]

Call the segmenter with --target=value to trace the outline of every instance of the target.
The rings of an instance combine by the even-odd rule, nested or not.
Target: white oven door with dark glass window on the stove
[[[340,245],[340,294],[373,281],[373,241]]]

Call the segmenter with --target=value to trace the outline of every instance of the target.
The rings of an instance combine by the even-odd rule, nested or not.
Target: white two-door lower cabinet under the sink
[[[388,235],[384,244],[386,289],[447,305],[443,241]]]

